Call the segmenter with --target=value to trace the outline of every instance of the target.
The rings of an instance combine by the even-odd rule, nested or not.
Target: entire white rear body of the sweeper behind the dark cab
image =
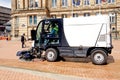
[[[106,30],[109,27],[109,25],[107,26],[107,24],[109,24],[108,16],[66,18],[63,22],[64,33],[71,47],[106,47],[106,34],[109,32]],[[97,41],[99,34],[105,35],[105,41]]]

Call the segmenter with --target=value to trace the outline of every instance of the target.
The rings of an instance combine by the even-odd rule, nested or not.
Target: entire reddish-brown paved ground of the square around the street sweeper
[[[0,41],[0,80],[120,80],[120,40],[113,40],[113,44],[108,64],[93,65],[89,59],[19,61],[20,41]]]

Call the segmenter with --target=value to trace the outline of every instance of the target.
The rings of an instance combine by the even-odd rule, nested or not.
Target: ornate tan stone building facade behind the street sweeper
[[[12,0],[12,35],[30,37],[44,18],[69,18],[107,14],[111,30],[120,31],[120,0]]]

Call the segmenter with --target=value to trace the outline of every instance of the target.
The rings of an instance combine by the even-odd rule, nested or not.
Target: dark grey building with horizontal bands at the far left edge
[[[0,6],[0,31],[4,31],[4,24],[11,19],[11,9]]]

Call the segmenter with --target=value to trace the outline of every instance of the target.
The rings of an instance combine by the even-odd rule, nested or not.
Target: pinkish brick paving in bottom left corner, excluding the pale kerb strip
[[[26,70],[0,67],[0,80],[55,80],[45,76],[37,76],[35,73]]]

